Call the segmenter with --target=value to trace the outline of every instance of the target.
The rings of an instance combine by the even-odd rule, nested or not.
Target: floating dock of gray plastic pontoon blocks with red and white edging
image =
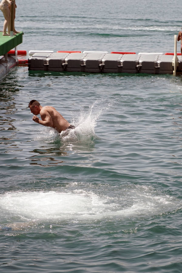
[[[165,55],[161,52],[136,54],[134,52],[39,51],[29,58],[28,66],[29,70],[45,71],[173,74],[173,55]],[[177,59],[176,64],[177,69],[181,70],[182,62]]]

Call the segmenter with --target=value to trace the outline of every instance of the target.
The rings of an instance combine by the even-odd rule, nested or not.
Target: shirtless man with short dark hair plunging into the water
[[[71,125],[63,116],[56,111],[52,106],[41,106],[40,103],[32,99],[29,102],[29,108],[31,113],[34,114],[32,120],[36,123],[42,124],[44,126],[53,127],[59,133],[67,129],[74,129],[75,126]],[[36,115],[40,114],[40,120]]]

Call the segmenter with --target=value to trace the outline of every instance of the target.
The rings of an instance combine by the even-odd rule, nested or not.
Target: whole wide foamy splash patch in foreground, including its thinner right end
[[[40,221],[89,222],[96,220],[140,218],[161,215],[180,209],[179,200],[166,194],[151,192],[151,187],[123,186],[118,196],[100,196],[91,191],[16,191],[0,195],[0,217],[3,223]],[[0,223],[1,226],[3,226]],[[11,227],[11,225],[9,225]],[[23,227],[23,224],[18,224]],[[12,224],[15,229],[16,224]]]

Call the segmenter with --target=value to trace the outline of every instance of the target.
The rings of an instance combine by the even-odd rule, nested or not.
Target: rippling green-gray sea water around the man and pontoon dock
[[[179,1],[16,4],[27,51],[173,52],[181,28]],[[181,272],[181,96],[181,76],[9,73],[1,271]],[[64,135],[33,122],[31,99],[76,128]]]

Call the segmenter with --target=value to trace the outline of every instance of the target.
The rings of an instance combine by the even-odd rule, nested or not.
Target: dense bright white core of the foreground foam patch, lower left
[[[62,192],[8,192],[0,197],[1,210],[9,217],[21,220],[78,220],[88,219],[105,208],[95,194]]]

